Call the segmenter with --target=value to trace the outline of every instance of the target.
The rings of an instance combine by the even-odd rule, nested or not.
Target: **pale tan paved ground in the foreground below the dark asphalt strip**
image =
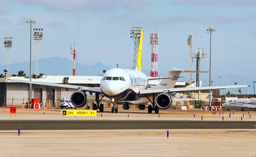
[[[26,131],[0,135],[1,157],[255,157],[255,130]]]

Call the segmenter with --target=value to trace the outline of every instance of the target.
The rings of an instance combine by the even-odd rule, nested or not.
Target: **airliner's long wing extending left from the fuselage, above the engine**
[[[77,86],[77,85],[67,85],[67,84],[59,84],[59,83],[45,83],[39,81],[26,81],[26,80],[15,80],[9,79],[12,82],[17,83],[28,83],[28,84],[35,84],[35,85],[43,85],[43,86],[54,86],[54,87],[61,87],[61,88],[69,88],[69,89],[80,89],[83,91],[91,91],[94,93],[103,94],[99,87],[86,87],[86,86]]]

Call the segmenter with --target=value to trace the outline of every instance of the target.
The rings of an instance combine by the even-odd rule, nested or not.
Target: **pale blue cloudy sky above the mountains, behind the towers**
[[[13,37],[10,63],[29,61],[30,26],[25,21],[32,18],[38,22],[32,29],[44,29],[40,58],[72,60],[70,45],[75,42],[78,63],[127,68],[133,66],[134,57],[130,30],[139,26],[144,29],[142,69],[150,71],[150,34],[159,33],[157,66],[160,75],[165,75],[173,67],[189,70],[190,34],[195,40],[193,51],[207,49],[201,71],[209,71],[207,29],[212,27],[216,29],[212,33],[212,75],[256,77],[255,8],[255,0],[0,0],[0,34]],[[7,50],[3,46],[0,54],[4,65]]]

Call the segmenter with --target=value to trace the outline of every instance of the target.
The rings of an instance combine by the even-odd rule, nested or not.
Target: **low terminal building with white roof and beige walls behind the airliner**
[[[17,80],[28,80],[25,77],[10,77]],[[32,81],[47,82],[47,83],[63,83],[87,87],[99,87],[102,76],[55,76],[55,75],[44,75]],[[149,87],[155,86],[160,80],[149,80]],[[195,83],[193,83],[195,86]],[[175,87],[186,87],[186,82],[177,82]],[[46,103],[47,107],[58,107],[62,99],[70,100],[71,94],[74,89],[65,89],[53,86],[41,86],[32,84],[32,98],[39,99],[39,103]],[[189,92],[185,94],[189,95]],[[185,95],[184,94],[184,95]],[[201,97],[206,97],[206,94],[200,94]],[[0,107],[3,106],[22,106],[23,103],[29,102],[29,84],[16,83],[7,80],[7,78],[0,78]],[[87,95],[90,97],[89,92]],[[95,101],[95,97],[88,98],[89,106]],[[92,102],[90,102],[92,100]],[[106,102],[104,102],[105,104]]]

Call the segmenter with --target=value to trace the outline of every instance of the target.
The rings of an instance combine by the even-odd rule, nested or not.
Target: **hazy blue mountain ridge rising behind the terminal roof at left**
[[[7,69],[6,65],[0,65],[0,74],[3,70]],[[84,65],[76,63],[76,75],[93,75],[98,76],[102,74],[102,70],[109,70],[110,68],[98,62],[93,65]],[[26,75],[29,75],[29,62],[12,63],[10,64],[11,74],[17,74],[17,71],[23,70]],[[47,75],[72,75],[73,60],[61,57],[52,57],[39,60],[39,73]],[[149,72],[142,70],[145,74],[149,75]],[[35,61],[32,61],[32,74],[35,74]]]

